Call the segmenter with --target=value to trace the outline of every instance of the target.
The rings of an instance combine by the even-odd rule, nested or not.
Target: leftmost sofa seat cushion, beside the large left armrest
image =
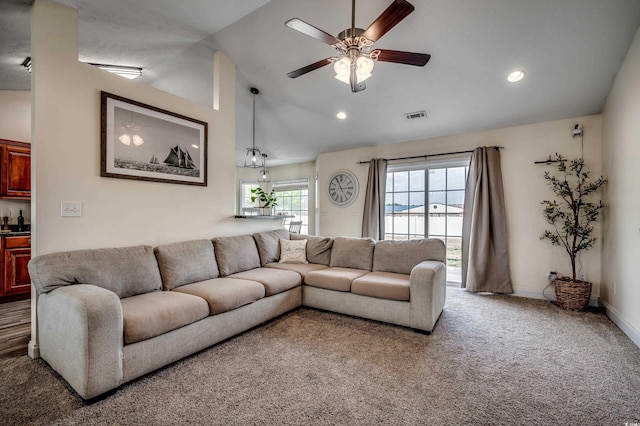
[[[154,291],[121,299],[125,344],[140,342],[209,316],[200,297]]]

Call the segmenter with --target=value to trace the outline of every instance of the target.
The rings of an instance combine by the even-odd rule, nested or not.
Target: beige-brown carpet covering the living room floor
[[[84,404],[42,361],[0,359],[18,424],[618,425],[640,349],[604,315],[448,288],[434,333],[300,309]]]

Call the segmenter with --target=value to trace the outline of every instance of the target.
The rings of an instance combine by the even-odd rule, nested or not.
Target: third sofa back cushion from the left
[[[260,267],[260,255],[251,235],[214,238],[213,247],[223,277]]]

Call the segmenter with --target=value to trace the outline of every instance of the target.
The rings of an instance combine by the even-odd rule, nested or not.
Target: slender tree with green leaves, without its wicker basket
[[[582,158],[569,161],[556,154],[556,161],[560,176],[549,172],[544,174],[556,199],[542,202],[544,217],[553,229],[545,230],[540,239],[565,249],[571,259],[571,279],[576,282],[576,258],[595,244],[597,238],[593,236],[593,224],[604,208],[602,201],[591,202],[589,196],[597,192],[606,180],[602,176],[591,180]]]

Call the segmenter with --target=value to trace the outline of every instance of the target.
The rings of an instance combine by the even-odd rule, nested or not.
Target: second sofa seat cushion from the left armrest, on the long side
[[[183,285],[173,292],[202,298],[209,304],[211,315],[216,315],[262,299],[264,286],[255,281],[216,278]]]

